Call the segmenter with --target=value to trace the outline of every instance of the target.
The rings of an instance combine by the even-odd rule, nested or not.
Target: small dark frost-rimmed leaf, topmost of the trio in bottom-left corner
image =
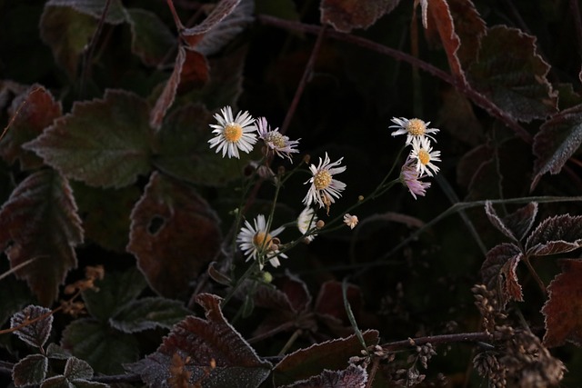
[[[14,328],[23,323],[28,323],[38,317],[46,315],[44,318],[15,331],[16,336],[25,343],[35,347],[42,348],[45,345],[48,336],[51,334],[53,327],[53,315],[48,314],[51,311],[45,307],[29,305],[21,312],[15,313],[10,319],[10,327]]]

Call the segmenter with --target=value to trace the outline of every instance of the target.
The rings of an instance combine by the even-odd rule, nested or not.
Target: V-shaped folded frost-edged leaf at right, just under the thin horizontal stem
[[[502,234],[514,240],[521,241],[531,229],[537,215],[537,203],[532,202],[517,209],[512,214],[500,218],[493,208],[491,201],[485,203],[485,212],[491,224],[493,224]]]

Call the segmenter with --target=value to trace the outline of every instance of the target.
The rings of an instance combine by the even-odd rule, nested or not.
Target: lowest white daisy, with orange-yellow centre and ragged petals
[[[274,267],[278,267],[281,265],[278,257],[287,257],[286,254],[279,253],[278,239],[276,238],[284,229],[284,227],[280,227],[274,231],[267,231],[265,215],[258,214],[254,224],[245,221],[245,226],[236,237],[236,242],[246,255],[246,261],[258,259],[261,269],[266,261]]]

